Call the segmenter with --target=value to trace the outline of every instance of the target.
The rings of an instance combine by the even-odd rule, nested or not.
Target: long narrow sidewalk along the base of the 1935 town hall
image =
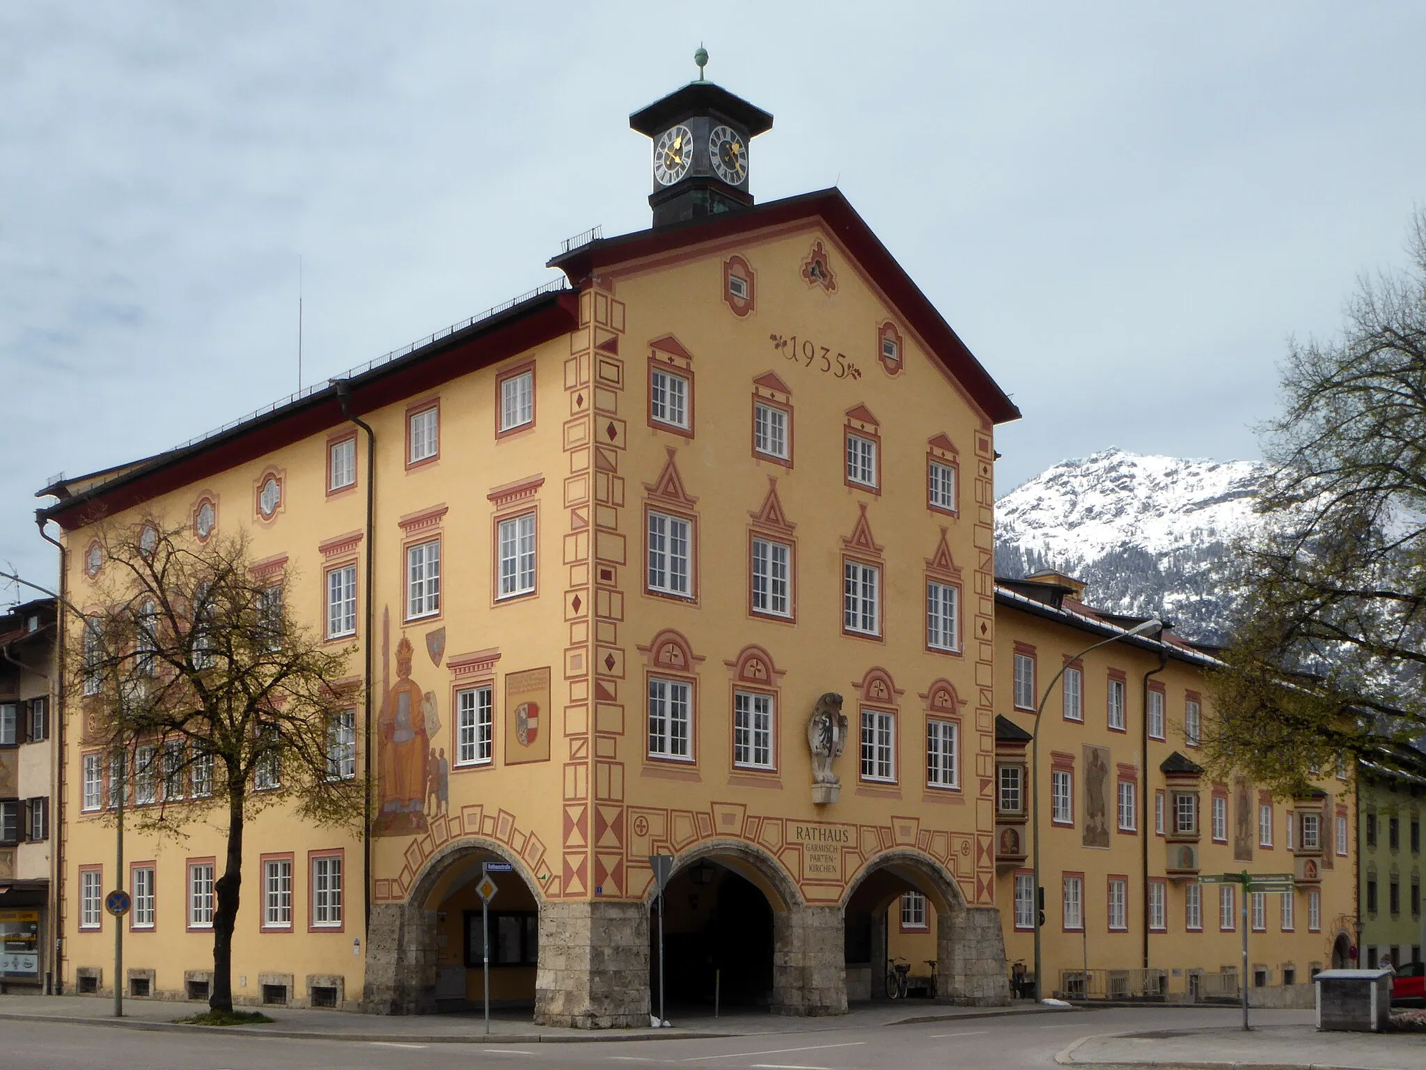
[[[0,996],[0,1021],[64,1021],[70,1024],[214,1031],[212,1026],[183,1026],[174,1019],[200,1014],[207,1003],[183,1000],[125,999],[124,1017],[116,1019],[113,997],[97,996]],[[241,1010],[252,1010],[241,1007]],[[713,1017],[712,1010],[669,1010],[673,1029],[558,1029],[536,1026],[529,1012],[492,1012],[491,1034],[485,1034],[481,1014],[354,1014],[341,1010],[297,1010],[257,1007],[271,1024],[232,1026],[231,1034],[294,1037],[305,1040],[402,1041],[402,1043],[597,1043],[617,1040],[693,1040],[699,1037],[757,1036],[767,1033],[816,1033],[868,1026],[897,1026],[910,1021],[953,1021],[958,1019],[1004,1017],[1020,1014],[1074,1013],[1055,1007],[1022,1004],[1010,1007],[953,1007],[930,1000],[907,1003],[856,1004],[848,1014],[833,1017],[784,1017],[766,1012],[737,1010]]]

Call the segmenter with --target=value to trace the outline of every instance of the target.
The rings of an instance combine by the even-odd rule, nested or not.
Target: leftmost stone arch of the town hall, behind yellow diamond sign
[[[438,907],[469,880],[479,856],[509,862],[535,900],[540,916],[539,956],[543,960],[546,900],[523,859],[486,836],[462,836],[442,845],[411,879],[404,900],[372,903],[366,937],[366,983],[362,1009],[381,1014],[434,1014],[438,977]],[[469,863],[469,865],[468,865]],[[512,875],[505,875],[506,879]],[[536,1000],[539,993],[536,992]]]

